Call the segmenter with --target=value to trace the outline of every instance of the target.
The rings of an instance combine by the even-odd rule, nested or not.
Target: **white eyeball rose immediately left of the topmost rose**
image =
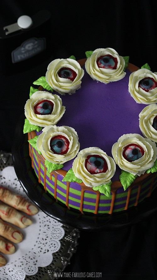
[[[46,81],[56,92],[75,93],[81,87],[84,70],[74,59],[55,59],[47,67]]]

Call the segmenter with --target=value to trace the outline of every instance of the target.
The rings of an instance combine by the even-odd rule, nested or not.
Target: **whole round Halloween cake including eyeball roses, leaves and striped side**
[[[136,206],[156,188],[157,105],[153,103],[157,103],[157,73],[145,64],[130,75],[138,67],[128,64],[129,57],[119,56],[113,48],[87,51],[86,56],[86,71],[74,56],[55,59],[48,65],[46,76],[33,83],[46,92],[41,96],[40,91],[30,88],[24,133],[28,132],[31,166],[50,195],[81,213],[111,214]],[[81,65],[84,61],[80,61]],[[128,82],[136,102],[128,92]],[[53,90],[64,95],[65,118],[61,98],[49,93]],[[74,92],[73,96],[68,95]],[[114,94],[119,98],[114,98]],[[146,102],[152,104],[137,104]],[[73,104],[80,106],[72,111]],[[104,104],[110,112],[104,110]],[[111,116],[115,116],[115,108],[121,127],[113,126]],[[127,118],[122,112],[123,116],[128,113]],[[69,126],[65,126],[66,121]],[[128,123],[128,133],[136,134],[124,134]],[[119,131],[122,136],[117,141]],[[112,149],[112,157],[103,149],[107,154]]]

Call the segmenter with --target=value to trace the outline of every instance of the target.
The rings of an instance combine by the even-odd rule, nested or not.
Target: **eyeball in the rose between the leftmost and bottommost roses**
[[[69,149],[69,140],[62,135],[57,135],[50,140],[50,149],[54,154],[67,154]]]

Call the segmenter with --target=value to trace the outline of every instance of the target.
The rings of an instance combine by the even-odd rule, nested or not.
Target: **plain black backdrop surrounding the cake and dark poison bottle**
[[[8,69],[4,74],[1,65],[0,149],[11,151],[14,129],[24,112],[30,86],[45,76],[52,59],[74,55],[78,60],[85,58],[87,50],[111,47],[122,56],[130,56],[129,62],[139,67],[148,63],[153,72],[157,71],[156,8],[154,1],[3,1],[0,27],[16,22],[21,15],[49,10],[51,47],[45,57],[41,53],[41,60],[30,60],[28,68],[19,65],[18,72],[10,68],[1,48],[0,58]],[[77,252],[65,272],[102,272],[102,279],[107,280],[157,279],[156,218],[154,214],[137,225],[113,232],[81,232]]]

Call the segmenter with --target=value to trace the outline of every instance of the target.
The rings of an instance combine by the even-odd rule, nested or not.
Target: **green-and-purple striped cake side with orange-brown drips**
[[[31,133],[30,138],[32,138]],[[44,165],[44,157],[39,155],[30,144],[29,147],[32,167],[44,189],[68,208],[72,207],[81,212],[111,214],[127,210],[150,196],[157,184],[157,173],[138,177],[126,191],[123,190],[120,181],[115,181],[111,185],[111,196],[108,198],[103,193],[86,187],[84,183],[62,182],[67,173],[62,169],[48,173]]]

